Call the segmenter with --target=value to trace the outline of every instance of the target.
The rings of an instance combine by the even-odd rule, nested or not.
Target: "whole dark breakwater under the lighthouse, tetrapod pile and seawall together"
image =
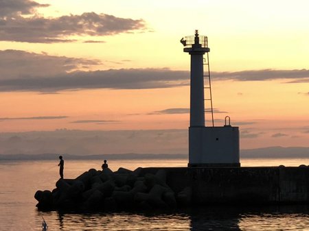
[[[37,191],[41,210],[172,209],[207,204],[309,204],[309,167],[165,167],[89,171]]]

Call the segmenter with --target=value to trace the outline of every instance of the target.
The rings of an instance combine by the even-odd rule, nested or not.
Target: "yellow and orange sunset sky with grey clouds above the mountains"
[[[231,117],[241,149],[308,147],[308,8],[0,0],[0,154],[186,154],[190,56],[179,40],[195,29],[208,37],[215,125]]]

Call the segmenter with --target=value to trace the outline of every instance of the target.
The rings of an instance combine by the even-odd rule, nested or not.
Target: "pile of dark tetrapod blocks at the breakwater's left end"
[[[116,209],[165,209],[176,208],[179,203],[191,203],[192,190],[183,189],[176,197],[167,182],[167,171],[160,169],[155,174],[143,169],[135,171],[119,168],[97,171],[89,169],[76,179],[60,179],[56,189],[36,191],[34,197],[40,209],[105,210]],[[155,169],[153,169],[155,170]]]

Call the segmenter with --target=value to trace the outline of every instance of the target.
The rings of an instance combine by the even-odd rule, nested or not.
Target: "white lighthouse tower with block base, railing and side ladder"
[[[225,117],[222,127],[214,126],[207,36],[199,36],[196,30],[195,36],[186,36],[181,43],[183,51],[191,56],[188,167],[240,167],[238,127],[231,126],[229,117]],[[205,53],[207,59],[203,58]],[[204,66],[208,69],[206,75]],[[208,77],[207,86],[204,77]],[[205,90],[209,93],[206,99]],[[205,101],[210,102],[207,112],[211,112],[211,126],[205,126]]]

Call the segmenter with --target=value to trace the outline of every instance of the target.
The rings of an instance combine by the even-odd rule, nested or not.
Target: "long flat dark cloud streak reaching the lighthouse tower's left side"
[[[187,71],[168,69],[120,69],[79,71],[45,77],[0,80],[0,91],[58,91],[93,88],[148,89],[188,84]]]

